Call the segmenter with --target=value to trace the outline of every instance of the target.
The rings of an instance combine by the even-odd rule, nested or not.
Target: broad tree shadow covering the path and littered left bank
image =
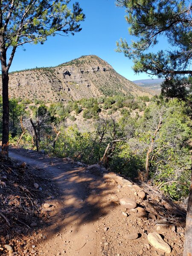
[[[41,154],[26,155],[25,152],[22,155],[22,152],[12,150],[10,155],[17,158],[19,161],[17,165],[27,162],[27,168],[23,176],[20,176],[21,178],[15,173],[13,183],[19,186],[15,191],[10,187],[9,194],[14,198],[19,196],[21,204],[25,196],[27,204],[30,204],[26,214],[25,206],[23,206],[23,212],[20,212],[20,206],[18,206],[15,219],[12,219],[14,209],[9,214],[5,210],[4,215],[11,220],[12,227],[4,228],[0,240],[1,244],[10,244],[14,252],[31,250],[33,243],[52,241],[56,233],[68,234],[72,224],[73,232],[78,234],[82,226],[92,225],[118,205],[112,199],[116,185],[106,180],[98,169],[87,172],[85,168],[76,166],[76,163],[49,158]],[[42,191],[35,189],[34,183],[38,183]],[[44,203],[50,204],[50,207],[45,208]],[[0,223],[5,225],[2,218]],[[8,255],[7,253],[3,250],[2,255]]]

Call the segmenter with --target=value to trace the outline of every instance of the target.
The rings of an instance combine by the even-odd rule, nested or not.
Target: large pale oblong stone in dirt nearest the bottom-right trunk
[[[147,239],[155,249],[162,250],[165,253],[171,253],[171,247],[163,241],[162,237],[158,233],[148,233]]]

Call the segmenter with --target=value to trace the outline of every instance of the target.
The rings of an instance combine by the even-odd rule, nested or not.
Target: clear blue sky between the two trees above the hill
[[[75,0],[71,0],[74,3]],[[55,66],[81,55],[98,55],[129,80],[148,79],[145,73],[135,75],[132,61],[123,53],[115,52],[119,38],[131,40],[125,9],[117,8],[114,0],[79,0],[86,19],[82,30],[74,36],[49,37],[43,44],[24,45],[17,49],[10,71],[34,67]]]

